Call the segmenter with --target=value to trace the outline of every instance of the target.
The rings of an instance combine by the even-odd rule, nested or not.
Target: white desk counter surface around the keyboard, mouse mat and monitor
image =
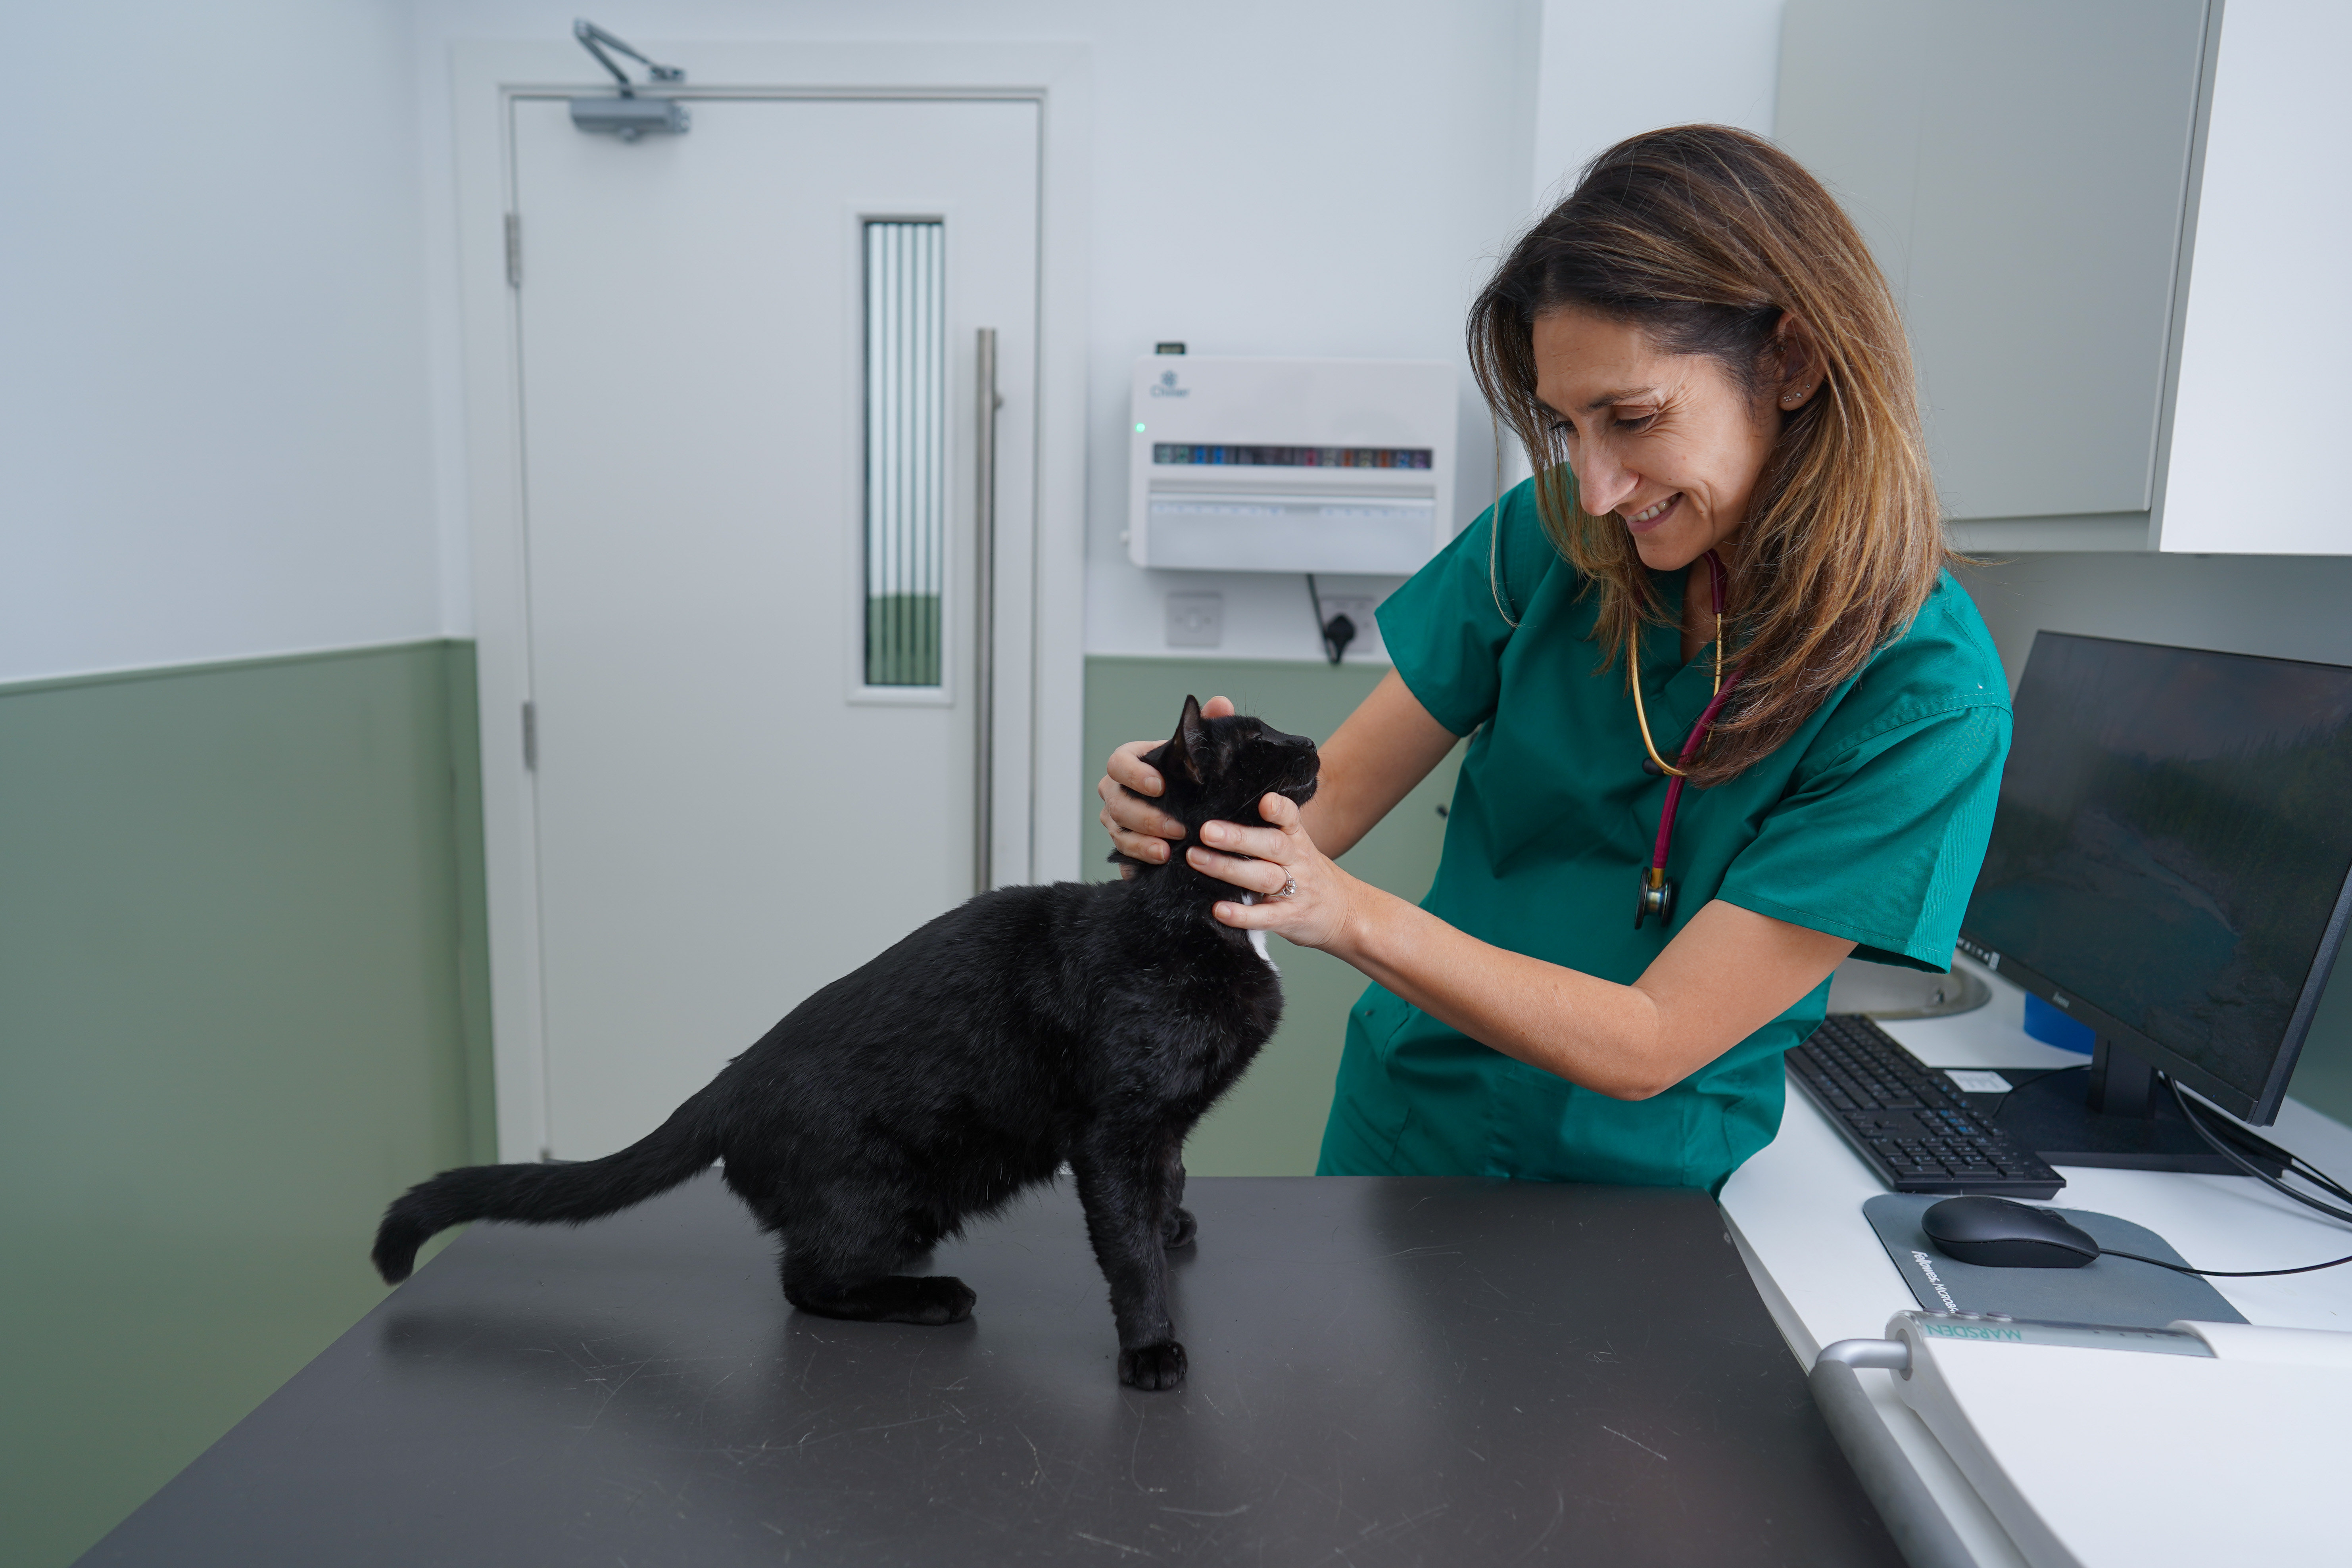
[[[2025,1034],[2025,992],[1976,971],[1992,1001],[1957,1018],[1882,1025],[1931,1067],[2079,1067],[2086,1058]],[[2352,1180],[2352,1128],[2288,1100],[2263,1131],[2338,1180]],[[2112,1213],[2147,1225],[2183,1258],[2209,1269],[2279,1269],[2352,1253],[2352,1229],[2293,1204],[2244,1175],[2166,1171],[2089,1171],[2063,1166],[2056,1204]],[[1780,1135],[1724,1185],[1731,1237],[1748,1258],[1757,1291],[1804,1366],[1835,1340],[1875,1340],[1886,1319],[1919,1302],[1863,1218],[1863,1201],[1884,1192],[1837,1128],[1790,1086]],[[2352,1265],[2284,1279],[2216,1279],[2213,1288],[2253,1324],[2352,1331]],[[2023,1566],[2016,1547],[1978,1502],[1976,1490],[1912,1415],[1891,1373],[1865,1371],[1863,1385],[1889,1432],[1985,1568]],[[2084,1455],[2091,1479],[2096,1455]]]

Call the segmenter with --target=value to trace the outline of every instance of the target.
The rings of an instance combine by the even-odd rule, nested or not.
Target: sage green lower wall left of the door
[[[492,1157],[470,644],[0,686],[0,1561],[66,1563]]]

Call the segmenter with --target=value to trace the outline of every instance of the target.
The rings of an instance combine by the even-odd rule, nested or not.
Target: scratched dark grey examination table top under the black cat
[[[710,1175],[477,1225],[82,1561],[1900,1568],[1703,1194],[1188,1204],[1174,1394],[1117,1385],[1068,1182],[938,1248],[950,1328],[793,1312]]]

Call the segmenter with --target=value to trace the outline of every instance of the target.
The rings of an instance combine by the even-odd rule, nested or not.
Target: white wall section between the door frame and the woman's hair
[[[1157,339],[1192,353],[1451,362],[1456,522],[1494,501],[1463,313],[1526,221],[1534,40],[1536,7],[1505,0],[1221,2],[1185,7],[1176,28],[1164,12],[1134,12],[1098,35],[1089,654],[1169,654],[1164,595],[1216,590],[1225,635],[1204,654],[1322,656],[1303,578],[1127,559],[1127,388]],[[1120,103],[1152,108],[1129,118]],[[1322,588],[1378,597],[1397,581]]]

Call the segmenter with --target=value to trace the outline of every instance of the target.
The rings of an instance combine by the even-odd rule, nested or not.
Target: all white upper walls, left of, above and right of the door
[[[572,0],[19,9],[42,68],[0,169],[0,679],[468,632],[449,45],[564,38]],[[1769,122],[1776,14],[640,0],[600,21],[1087,42],[1089,649],[1162,654],[1162,595],[1218,588],[1218,654],[1315,658],[1303,583],[1127,562],[1129,360],[1174,336],[1463,364],[1463,308],[1531,193],[1646,125]],[[1468,367],[1461,409],[1468,520],[1515,475]]]

